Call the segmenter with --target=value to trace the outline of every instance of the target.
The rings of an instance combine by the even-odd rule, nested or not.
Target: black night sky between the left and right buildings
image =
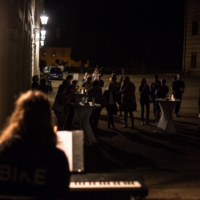
[[[184,0],[46,0],[45,10],[46,45],[71,46],[74,59],[181,68]]]

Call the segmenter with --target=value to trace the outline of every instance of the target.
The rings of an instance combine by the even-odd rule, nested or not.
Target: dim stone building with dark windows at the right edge
[[[200,1],[185,0],[183,72],[200,76]]]

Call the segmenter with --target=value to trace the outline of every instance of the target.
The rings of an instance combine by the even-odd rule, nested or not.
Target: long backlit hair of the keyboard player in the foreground
[[[17,99],[0,142],[12,138],[20,138],[33,146],[56,145],[50,103],[45,94],[40,91],[28,91]]]

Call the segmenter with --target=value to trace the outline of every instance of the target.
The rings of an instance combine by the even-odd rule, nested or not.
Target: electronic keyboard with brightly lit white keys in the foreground
[[[148,194],[141,177],[128,173],[72,174],[69,189],[73,200],[144,199]]]

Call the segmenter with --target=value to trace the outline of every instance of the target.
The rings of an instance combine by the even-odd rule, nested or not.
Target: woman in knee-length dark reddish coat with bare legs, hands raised
[[[130,81],[129,76],[125,76],[119,93],[121,94],[122,110],[124,111],[124,126],[127,128],[128,113],[131,118],[132,126],[134,128],[134,115],[133,111],[136,111],[136,98],[135,98],[135,85]]]

